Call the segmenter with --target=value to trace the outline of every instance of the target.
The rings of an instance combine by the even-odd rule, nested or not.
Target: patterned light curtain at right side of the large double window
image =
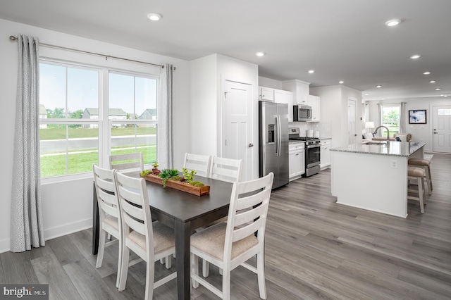
[[[166,63],[161,71],[159,101],[158,163],[160,168],[173,168],[173,65]]]

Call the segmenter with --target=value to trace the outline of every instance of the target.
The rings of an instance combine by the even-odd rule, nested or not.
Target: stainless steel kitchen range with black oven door
[[[309,177],[319,173],[319,164],[321,163],[321,144],[316,137],[301,137],[298,127],[290,127],[288,139],[305,141],[305,174],[303,177]]]

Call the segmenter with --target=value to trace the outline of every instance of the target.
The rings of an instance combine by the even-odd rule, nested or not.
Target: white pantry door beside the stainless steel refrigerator
[[[222,156],[242,159],[242,181],[251,180],[252,85],[224,80],[222,91]]]

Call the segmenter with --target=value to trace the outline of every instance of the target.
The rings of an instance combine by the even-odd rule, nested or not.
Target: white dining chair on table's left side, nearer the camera
[[[114,171],[116,189],[122,220],[122,257],[119,277],[119,292],[125,289],[130,250],[147,264],[146,289],[144,299],[152,299],[154,289],[177,277],[173,272],[154,282],[155,261],[175,254],[175,237],[173,229],[159,223],[152,223],[149,195],[143,178],[135,178]],[[139,262],[141,260],[137,260]]]

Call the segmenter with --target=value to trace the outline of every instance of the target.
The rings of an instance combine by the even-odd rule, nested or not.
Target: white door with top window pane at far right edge
[[[433,106],[433,151],[451,153],[451,106]]]

